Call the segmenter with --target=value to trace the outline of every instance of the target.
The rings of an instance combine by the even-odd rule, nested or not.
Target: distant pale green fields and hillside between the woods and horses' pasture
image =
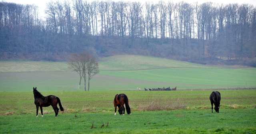
[[[256,88],[256,68],[205,66],[148,56],[102,58],[91,91],[137,90],[137,87],[184,89]],[[0,61],[0,91],[82,91],[79,75],[65,62]],[[247,84],[247,85],[246,85]]]

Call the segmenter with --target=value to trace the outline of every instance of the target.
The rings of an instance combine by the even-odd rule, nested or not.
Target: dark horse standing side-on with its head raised
[[[58,98],[54,95],[49,95],[49,96],[44,97],[34,87],[33,87],[33,93],[34,93],[35,104],[36,104],[36,117],[38,115],[38,107],[39,106],[41,109],[42,117],[43,117],[43,108],[42,107],[52,106],[52,108],[55,112],[55,116],[58,116],[59,108],[57,107],[57,104],[59,103],[60,110],[63,111],[63,108],[60,103],[60,98]]]

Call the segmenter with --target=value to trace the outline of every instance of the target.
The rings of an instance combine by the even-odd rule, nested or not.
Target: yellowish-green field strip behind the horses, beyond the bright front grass
[[[39,92],[40,88],[37,87]],[[124,93],[128,96],[132,111],[142,110],[142,106],[156,102],[185,106],[186,109],[208,109],[211,107],[210,90],[197,91],[94,91],[94,92],[41,92],[42,95],[55,95],[60,98],[66,112],[114,112],[114,96]],[[222,90],[220,112],[232,108],[254,108],[256,90]],[[0,92],[1,114],[14,111],[16,114],[36,112],[33,92]],[[170,108],[168,110],[173,110]],[[53,112],[51,107],[44,111]],[[209,109],[209,111],[211,111]]]

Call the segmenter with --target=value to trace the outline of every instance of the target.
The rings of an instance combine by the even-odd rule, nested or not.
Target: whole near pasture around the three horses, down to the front
[[[46,107],[44,117],[39,114],[38,118],[32,92],[0,92],[1,115],[12,114],[0,116],[0,133],[256,133],[255,90],[220,91],[220,113],[211,112],[211,92],[41,92],[58,96],[65,111],[55,117],[52,107]],[[114,116],[114,96],[120,93],[128,96],[132,115]],[[174,107],[141,110],[154,102]],[[175,105],[184,107],[175,109]],[[92,123],[96,128],[90,129]]]

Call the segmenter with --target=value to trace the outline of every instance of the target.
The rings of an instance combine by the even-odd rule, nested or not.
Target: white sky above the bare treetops
[[[14,3],[19,3],[19,4],[35,4],[36,6],[39,7],[39,13],[40,16],[45,16],[44,15],[44,9],[46,8],[46,3],[50,1],[58,1],[58,0],[2,0],[4,2],[14,2]],[[64,0],[59,0],[60,2]],[[72,0],[69,0],[72,1]],[[94,0],[87,0],[88,2],[94,1]],[[101,0],[99,0],[101,1]],[[110,0],[110,1],[121,1],[121,0]],[[138,1],[138,0],[123,0],[123,1]],[[139,0],[141,3],[144,3],[146,1],[156,1],[156,0]],[[159,1],[159,0],[157,0]],[[169,1],[169,0],[163,0],[163,1]],[[182,0],[172,0],[174,3],[182,1]],[[229,4],[229,3],[238,3],[238,4],[252,4],[256,6],[256,0],[183,0],[188,3],[194,3],[198,2],[198,4],[202,4],[204,2],[214,2],[214,3],[219,3],[219,4]]]

